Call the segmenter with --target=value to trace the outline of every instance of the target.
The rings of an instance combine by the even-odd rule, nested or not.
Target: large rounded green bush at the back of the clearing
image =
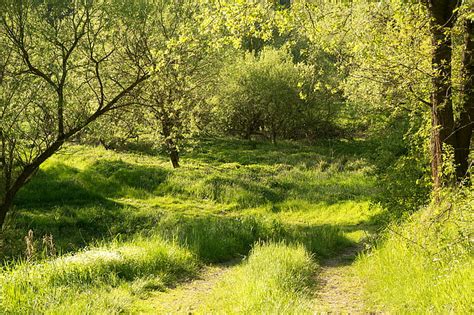
[[[324,97],[328,91],[314,86],[315,72],[295,64],[285,48],[265,48],[259,55],[232,60],[223,68],[216,99],[224,131],[273,141],[327,134],[338,110]]]

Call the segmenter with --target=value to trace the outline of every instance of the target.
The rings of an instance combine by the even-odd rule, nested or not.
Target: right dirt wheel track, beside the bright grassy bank
[[[314,297],[315,312],[325,314],[367,313],[361,297],[360,283],[352,263],[360,247],[351,247],[341,255],[322,261]]]

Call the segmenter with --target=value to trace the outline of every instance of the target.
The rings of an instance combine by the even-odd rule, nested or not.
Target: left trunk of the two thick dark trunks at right
[[[434,189],[447,184],[442,173],[445,145],[455,147],[454,113],[452,104],[451,29],[456,20],[457,1],[428,0],[427,8],[431,15],[433,91],[431,94],[431,170]]]

